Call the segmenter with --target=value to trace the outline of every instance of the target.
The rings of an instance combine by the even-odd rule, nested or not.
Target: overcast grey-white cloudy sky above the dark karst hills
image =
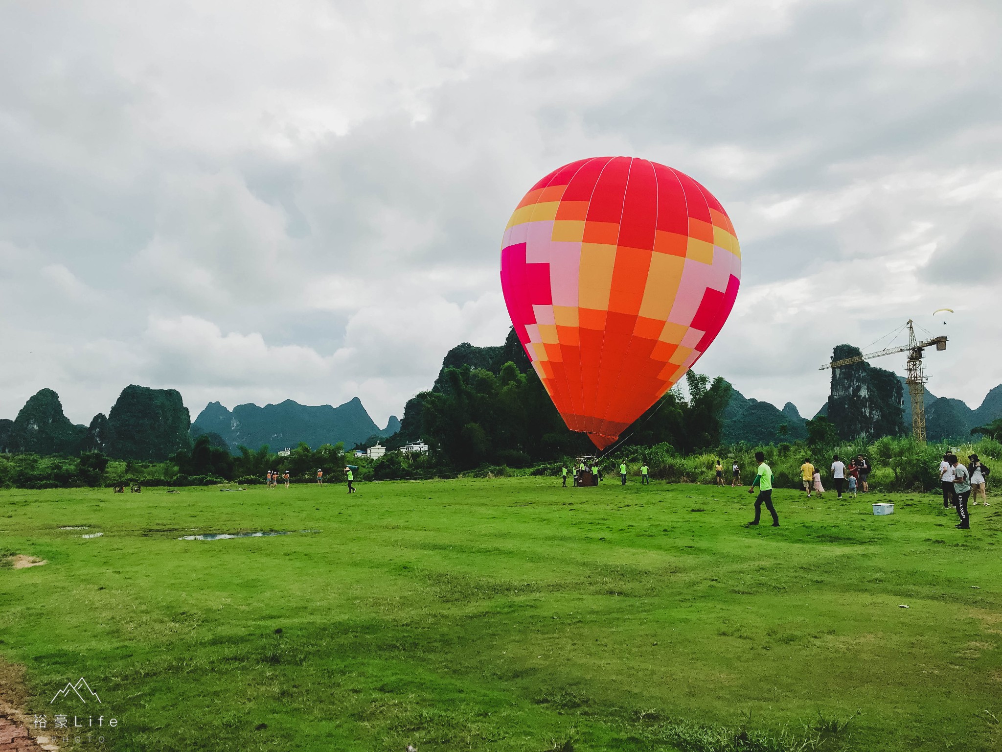
[[[5,3],[0,417],[51,387],[86,423],[138,383],[192,417],[357,395],[382,425],[450,347],[500,344],[508,216],[602,154],[733,220],[697,370],[813,415],[831,348],[911,317],[951,337],[930,389],[977,406],[1000,38],[991,0]]]

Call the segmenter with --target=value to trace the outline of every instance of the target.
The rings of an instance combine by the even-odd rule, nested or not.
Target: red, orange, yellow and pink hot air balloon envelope
[[[599,449],[706,351],[740,267],[733,226],[706,189],[629,156],[550,172],[501,246],[515,332],[567,427]]]

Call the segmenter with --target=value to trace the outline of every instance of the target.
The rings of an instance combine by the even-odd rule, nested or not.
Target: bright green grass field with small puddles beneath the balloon
[[[999,749],[1002,503],[776,495],[0,491],[0,551],[48,560],[0,569],[0,657],[50,729],[116,718],[81,749]],[[178,539],[258,530],[293,532]],[[99,707],[49,704],[81,676]]]

